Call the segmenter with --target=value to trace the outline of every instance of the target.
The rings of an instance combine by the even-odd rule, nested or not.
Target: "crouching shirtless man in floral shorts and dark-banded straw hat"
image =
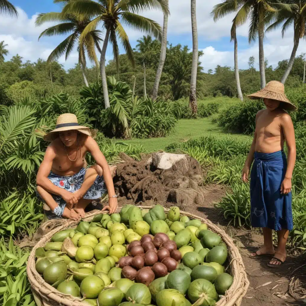
[[[85,208],[104,193],[109,195],[110,214],[117,209],[117,196],[109,166],[93,131],[80,126],[74,114],[62,114],[56,129],[44,140],[51,142],[36,177],[38,198],[47,204],[45,215],[52,218],[80,220]],[[85,155],[90,152],[96,165],[87,168]],[[106,185],[106,188],[105,188]]]

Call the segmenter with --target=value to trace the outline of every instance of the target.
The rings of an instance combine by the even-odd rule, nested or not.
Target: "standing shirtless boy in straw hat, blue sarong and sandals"
[[[263,247],[250,257],[272,256],[269,267],[279,267],[286,259],[286,242],[293,229],[291,210],[291,178],[296,159],[296,145],[291,117],[285,110],[296,107],[287,99],[284,85],[271,81],[261,91],[249,95],[263,98],[267,109],[256,114],[254,139],[242,170],[242,180],[248,182],[251,171],[251,224],[263,230]],[[288,163],[283,151],[288,149]],[[272,230],[277,231],[278,246],[274,251]]]

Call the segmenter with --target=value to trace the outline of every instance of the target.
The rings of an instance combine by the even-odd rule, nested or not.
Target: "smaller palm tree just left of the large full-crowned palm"
[[[54,0],[54,2],[64,2],[69,3],[69,1],[60,1]],[[78,43],[79,38],[83,30],[86,26],[91,22],[89,17],[84,15],[73,15],[73,14],[63,14],[63,13],[43,13],[39,14],[36,18],[35,24],[36,26],[40,26],[45,22],[59,22],[59,24],[47,28],[40,35],[39,39],[42,36],[53,36],[53,35],[65,35],[67,33],[71,33],[66,39],[64,39],[49,55],[47,62],[58,60],[64,53],[65,59],[69,57],[74,46]],[[98,64],[98,58],[95,53],[95,47],[99,47],[99,42],[102,41],[100,37],[101,31],[94,30],[89,32],[86,37],[82,40],[82,43],[78,43],[77,51],[79,54],[79,64],[82,70],[82,75],[84,79],[85,85],[88,87],[88,81],[86,79],[85,71],[86,71],[86,53],[88,54],[88,58]]]

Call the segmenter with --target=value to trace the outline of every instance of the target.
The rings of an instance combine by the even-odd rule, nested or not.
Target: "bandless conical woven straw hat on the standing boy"
[[[297,107],[291,103],[285,95],[285,87],[279,81],[270,81],[265,88],[248,95],[250,99],[273,99],[280,101],[280,107],[284,110],[297,110]]]

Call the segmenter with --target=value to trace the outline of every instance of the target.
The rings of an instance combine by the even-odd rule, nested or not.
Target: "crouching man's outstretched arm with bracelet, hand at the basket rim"
[[[98,144],[92,137],[87,137],[87,139],[85,140],[85,146],[87,150],[91,153],[92,157],[95,159],[95,162],[97,163],[97,165],[99,165],[103,169],[103,178],[105,181],[105,185],[106,185],[107,193],[109,197],[109,200],[108,200],[109,205],[104,207],[103,210],[109,209],[110,214],[113,214],[115,210],[117,209],[118,204],[117,204],[117,198],[112,197],[116,194],[115,194],[113,178],[110,173],[110,168]]]

